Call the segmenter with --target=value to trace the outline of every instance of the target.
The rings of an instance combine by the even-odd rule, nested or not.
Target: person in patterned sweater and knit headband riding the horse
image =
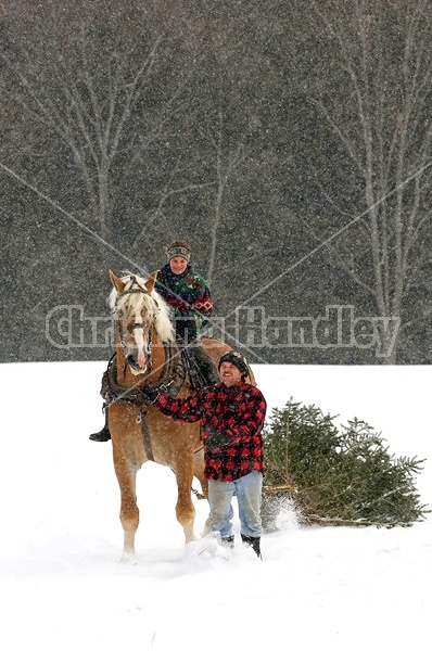
[[[166,250],[168,263],[157,271],[154,289],[171,307],[176,342],[191,383],[195,390],[217,384],[217,370],[200,343],[200,334],[213,314],[213,301],[205,280],[190,264],[191,248],[187,242],[176,240]],[[90,434],[90,441],[110,441],[105,424],[100,432]]]

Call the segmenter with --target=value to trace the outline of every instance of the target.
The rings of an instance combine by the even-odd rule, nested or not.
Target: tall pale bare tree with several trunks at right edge
[[[340,210],[350,224],[343,237],[326,244],[318,230],[317,235],[335,264],[372,297],[384,345],[391,346],[387,337],[394,333],[385,323],[397,318],[407,326],[410,290],[429,255],[421,238],[431,220],[430,4],[332,0],[314,2],[314,10],[327,35],[331,75],[310,79],[307,94],[360,188],[352,192],[357,218],[348,219],[346,206]],[[338,208],[332,190],[321,189]],[[384,359],[387,363],[396,361],[399,336]]]

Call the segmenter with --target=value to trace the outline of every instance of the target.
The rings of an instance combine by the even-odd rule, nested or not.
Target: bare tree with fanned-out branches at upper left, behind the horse
[[[94,66],[82,27],[73,64],[59,54],[45,71],[31,61],[25,69],[15,66],[20,81],[15,97],[69,149],[102,237],[107,234],[114,188],[120,186],[113,179],[114,162],[119,153],[131,155],[130,122],[148,88],[158,47],[160,39],[154,39],[145,56],[135,60],[134,49],[113,51],[104,66]]]

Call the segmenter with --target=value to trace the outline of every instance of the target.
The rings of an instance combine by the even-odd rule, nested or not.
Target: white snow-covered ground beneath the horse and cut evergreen
[[[125,565],[101,362],[0,366],[0,647],[115,649],[424,649],[432,621],[432,518],[408,528],[301,528],[290,512],[238,546],[183,546],[169,470],[139,473],[138,563]],[[425,458],[432,505],[431,367],[255,366],[269,416],[292,396],[366,420],[398,456]],[[196,532],[207,514],[196,502]]]

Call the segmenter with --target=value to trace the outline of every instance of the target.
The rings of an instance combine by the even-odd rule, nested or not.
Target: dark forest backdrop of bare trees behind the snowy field
[[[251,362],[430,363],[431,37],[429,0],[0,1],[0,361],[107,359],[109,269],[182,238]]]

